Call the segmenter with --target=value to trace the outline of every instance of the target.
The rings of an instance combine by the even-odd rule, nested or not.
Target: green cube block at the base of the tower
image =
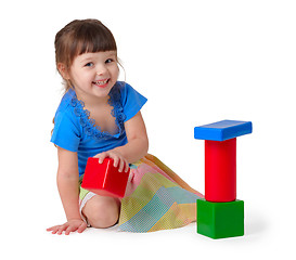
[[[244,202],[197,199],[197,233],[211,238],[244,235]]]

